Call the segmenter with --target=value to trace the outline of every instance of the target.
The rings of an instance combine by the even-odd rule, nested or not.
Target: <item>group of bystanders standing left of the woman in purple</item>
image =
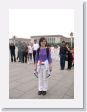
[[[37,40],[34,40],[34,44],[18,42],[16,45],[12,42],[9,44],[11,62],[21,62],[21,63],[35,63],[36,51],[39,48]],[[33,59],[32,59],[33,58]]]

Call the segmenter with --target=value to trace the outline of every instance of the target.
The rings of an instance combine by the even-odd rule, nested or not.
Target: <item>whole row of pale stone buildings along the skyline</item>
[[[25,42],[25,43],[34,43],[34,40],[37,40],[39,42],[39,39],[41,37],[45,37],[47,39],[47,43],[49,44],[60,44],[62,41],[65,41],[66,43],[73,43],[74,44],[74,38],[67,38],[63,35],[39,35],[39,36],[31,36],[30,39],[26,38],[18,38],[16,36],[13,36],[13,38],[9,39],[9,42],[14,42],[15,44],[18,43],[18,41]]]

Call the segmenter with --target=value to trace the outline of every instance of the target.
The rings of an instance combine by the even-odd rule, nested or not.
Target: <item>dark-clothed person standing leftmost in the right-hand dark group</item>
[[[67,52],[66,43],[65,43],[65,41],[62,41],[62,45],[61,45],[60,51],[59,51],[61,70],[64,70],[64,68],[65,68],[66,52]]]

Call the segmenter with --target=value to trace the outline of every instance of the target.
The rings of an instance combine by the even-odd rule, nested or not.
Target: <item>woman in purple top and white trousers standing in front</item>
[[[46,95],[48,89],[48,71],[52,69],[51,54],[49,48],[47,48],[47,41],[44,37],[40,38],[39,46],[36,57],[36,71],[38,73],[38,95]]]

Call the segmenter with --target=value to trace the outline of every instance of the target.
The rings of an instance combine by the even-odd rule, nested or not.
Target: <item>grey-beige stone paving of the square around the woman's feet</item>
[[[48,78],[48,91],[38,95],[38,79],[34,76],[34,64],[9,62],[10,99],[73,99],[74,69],[60,70],[59,61],[53,60],[52,73]],[[66,65],[67,66],[67,65]]]

